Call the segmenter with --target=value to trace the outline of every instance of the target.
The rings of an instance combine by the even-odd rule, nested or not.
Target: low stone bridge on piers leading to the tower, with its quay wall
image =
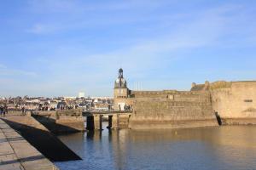
[[[102,130],[103,117],[108,120],[108,128],[128,128],[132,111],[32,111],[38,122],[44,124],[53,133]],[[84,123],[86,122],[86,123]],[[85,125],[85,127],[84,127]]]

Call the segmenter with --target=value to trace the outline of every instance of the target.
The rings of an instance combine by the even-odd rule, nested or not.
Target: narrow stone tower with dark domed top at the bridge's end
[[[123,75],[123,69],[119,69],[119,77],[114,82],[113,97],[114,97],[114,110],[124,111],[125,105],[127,105],[127,98],[129,95],[129,89],[127,88],[127,82]]]

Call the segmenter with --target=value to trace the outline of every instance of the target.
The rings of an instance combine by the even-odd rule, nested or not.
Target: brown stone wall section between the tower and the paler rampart
[[[218,126],[208,92],[131,91],[132,129]]]

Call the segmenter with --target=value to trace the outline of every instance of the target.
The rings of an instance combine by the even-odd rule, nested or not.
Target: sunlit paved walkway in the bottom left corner
[[[57,170],[58,168],[0,119],[0,169]]]

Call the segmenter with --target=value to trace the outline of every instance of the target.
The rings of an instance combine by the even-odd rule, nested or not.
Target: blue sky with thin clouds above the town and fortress
[[[254,0],[2,0],[0,96],[256,79]]]

